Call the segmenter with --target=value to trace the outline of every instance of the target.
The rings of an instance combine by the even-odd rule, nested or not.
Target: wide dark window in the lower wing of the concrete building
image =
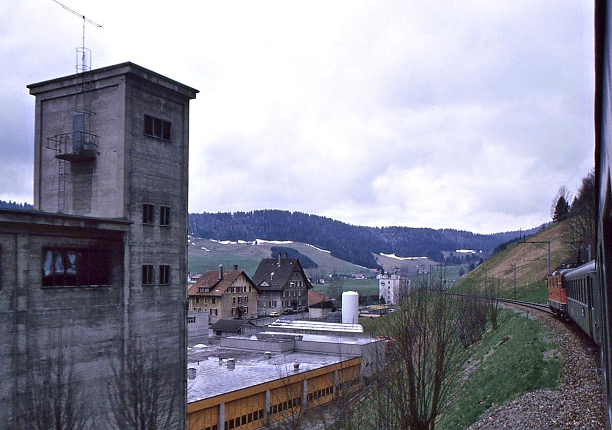
[[[45,248],[42,252],[43,287],[79,287],[110,284],[110,253],[102,249]]]

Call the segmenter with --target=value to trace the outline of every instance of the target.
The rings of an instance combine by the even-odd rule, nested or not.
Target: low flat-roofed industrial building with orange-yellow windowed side
[[[308,322],[297,323],[307,330]],[[318,325],[313,331],[324,334],[306,334],[277,331],[275,325],[250,336],[222,338],[215,347],[192,349],[188,429],[252,430],[297,420],[307,410],[356,390],[362,375],[382,360],[384,341],[351,336],[340,326]]]

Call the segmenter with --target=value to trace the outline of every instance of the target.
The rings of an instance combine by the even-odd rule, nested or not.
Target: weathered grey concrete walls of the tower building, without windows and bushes
[[[87,82],[81,86],[83,79]],[[56,218],[67,228],[53,235],[37,234],[40,220],[17,235],[9,232],[12,227],[0,224],[2,282],[6,267],[15,273],[6,284],[13,287],[3,284],[0,290],[0,329],[10,333],[11,345],[0,350],[0,376],[8,372],[12,377],[11,382],[0,383],[0,394],[27,391],[23,375],[29,361],[62,350],[76,363],[78,383],[98,393],[89,401],[99,400],[100,417],[106,413],[108,420],[109,409],[103,405],[108,399],[100,396],[108,397],[106,386],[113,378],[110,363],[121,369],[135,354],[155,356],[162,377],[167,377],[168,391],[177,393],[173,428],[182,429],[187,380],[188,102],[196,90],[132,63],[28,88],[36,96],[35,208],[54,213],[63,206],[64,214],[121,219],[129,225],[121,230],[120,244],[113,247],[111,287],[49,289],[41,283],[41,249],[51,246],[47,240],[56,247],[88,247],[95,246],[92,240],[103,243],[108,232],[93,239],[90,235],[95,236],[99,226],[95,222],[85,229],[71,225],[70,215]],[[80,92],[83,88],[86,91]],[[73,116],[83,111],[84,99],[91,110],[86,115],[89,132],[98,136],[97,154],[95,159],[62,162],[65,192],[61,193],[61,162],[48,148],[48,138],[70,135]],[[144,115],[171,122],[170,140],[145,135]],[[143,203],[154,206],[152,225],[143,224]],[[169,226],[160,225],[162,205],[170,207]],[[17,263],[5,262],[5,242],[7,249],[17,249]],[[154,268],[152,285],[143,285],[143,265]],[[167,285],[160,285],[161,265],[170,266]],[[39,352],[32,349],[34,343]],[[90,385],[89,379],[105,380],[106,386],[102,382]],[[12,410],[16,407],[13,403]],[[5,410],[1,409],[0,418]]]

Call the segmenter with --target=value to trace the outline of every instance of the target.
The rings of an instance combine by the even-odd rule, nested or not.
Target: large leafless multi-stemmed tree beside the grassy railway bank
[[[457,301],[420,285],[386,319],[387,363],[367,383],[371,428],[433,430],[457,380]]]

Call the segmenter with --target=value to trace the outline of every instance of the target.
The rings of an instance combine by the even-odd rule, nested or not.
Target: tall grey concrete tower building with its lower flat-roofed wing
[[[0,427],[37,428],[50,399],[84,426],[134,428],[125,405],[140,390],[159,391],[147,408],[160,423],[185,428],[198,91],[130,62],[28,88],[35,211],[0,210]]]

